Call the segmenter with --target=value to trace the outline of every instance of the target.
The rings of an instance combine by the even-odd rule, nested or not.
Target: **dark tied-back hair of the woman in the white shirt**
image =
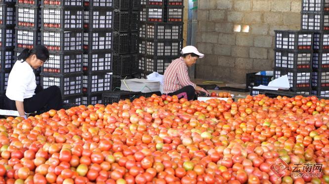
[[[33,49],[24,49],[17,57],[18,60],[26,60],[29,56],[36,55],[37,58],[43,62],[49,59],[48,49],[43,45],[36,45]]]

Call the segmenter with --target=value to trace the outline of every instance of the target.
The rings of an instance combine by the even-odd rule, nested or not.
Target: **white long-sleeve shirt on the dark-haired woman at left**
[[[6,96],[11,100],[24,101],[35,94],[36,88],[36,76],[30,64],[16,61],[8,77]]]

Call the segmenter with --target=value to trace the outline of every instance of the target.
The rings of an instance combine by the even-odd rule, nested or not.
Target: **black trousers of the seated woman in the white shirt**
[[[50,86],[44,90],[41,86],[37,86],[35,93],[32,97],[24,99],[23,104],[26,113],[33,113],[35,111],[41,113],[43,109],[45,111],[51,109],[60,110],[63,107],[62,94],[57,86]],[[5,96],[4,109],[16,111],[15,100],[11,100]]]

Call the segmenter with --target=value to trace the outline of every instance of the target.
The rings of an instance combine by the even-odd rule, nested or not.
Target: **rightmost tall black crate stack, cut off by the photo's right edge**
[[[329,2],[303,0],[301,30],[314,34],[312,94],[329,97]]]

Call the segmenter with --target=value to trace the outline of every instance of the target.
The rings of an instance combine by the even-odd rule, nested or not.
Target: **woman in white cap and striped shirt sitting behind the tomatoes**
[[[205,55],[194,46],[186,46],[181,51],[182,56],[172,61],[164,71],[164,94],[177,95],[178,98],[193,100],[196,92],[205,92],[205,89],[192,83],[188,75],[188,68]]]

